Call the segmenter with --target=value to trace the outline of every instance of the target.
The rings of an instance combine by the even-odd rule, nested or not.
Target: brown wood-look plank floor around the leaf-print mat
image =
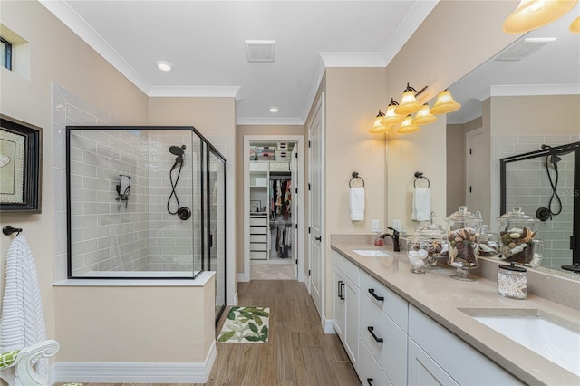
[[[205,384],[361,385],[338,336],[324,333],[320,316],[304,283],[253,280],[238,283],[237,294],[238,305],[270,307],[268,343],[217,343],[218,356]],[[222,323],[223,320],[218,323],[217,333]],[[85,383],[85,386],[128,385],[160,386],[149,383]]]

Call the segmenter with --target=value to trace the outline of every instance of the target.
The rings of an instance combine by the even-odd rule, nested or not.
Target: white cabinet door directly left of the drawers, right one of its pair
[[[344,275],[344,331],[343,344],[346,353],[358,370],[359,362],[359,288]]]

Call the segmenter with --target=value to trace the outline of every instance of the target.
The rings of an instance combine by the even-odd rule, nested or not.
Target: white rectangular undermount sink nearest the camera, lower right
[[[461,311],[580,377],[578,325],[536,309],[489,310]]]

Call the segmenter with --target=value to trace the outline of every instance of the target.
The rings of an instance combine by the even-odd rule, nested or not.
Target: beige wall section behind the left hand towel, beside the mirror
[[[385,227],[385,139],[371,134],[374,117],[387,103],[384,68],[329,68],[326,70],[324,151],[326,165],[324,253],[324,313],[332,315],[330,235],[369,233],[371,219]],[[365,183],[364,221],[351,221],[348,182],[358,171]]]

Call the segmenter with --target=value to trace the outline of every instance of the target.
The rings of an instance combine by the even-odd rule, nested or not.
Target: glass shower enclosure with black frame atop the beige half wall
[[[71,279],[195,279],[226,304],[226,159],[195,128],[67,126]]]

